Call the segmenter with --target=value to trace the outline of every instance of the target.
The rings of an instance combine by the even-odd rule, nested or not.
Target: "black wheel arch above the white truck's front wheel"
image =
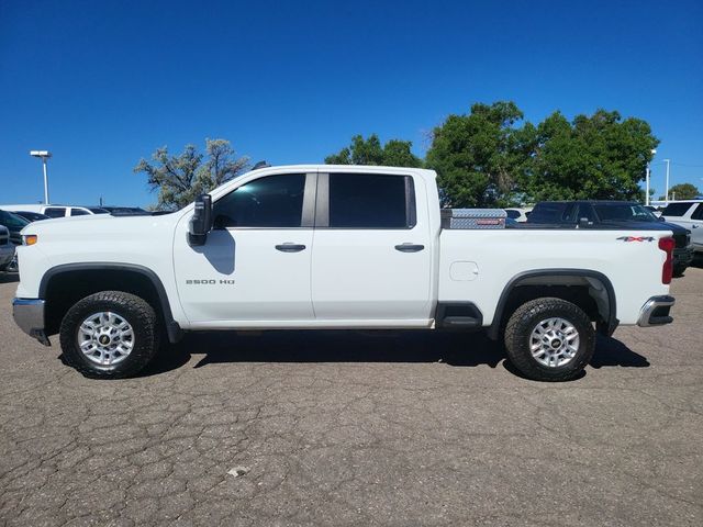
[[[105,287],[100,285],[100,280],[96,279],[97,273],[102,273]],[[62,278],[65,280],[62,280]],[[56,296],[62,291],[60,284],[66,285],[68,283],[78,285],[75,290],[71,290],[72,294],[69,295],[71,301],[80,300],[77,296],[85,298],[88,294],[110,289],[146,296],[145,300],[154,304],[153,307],[160,315],[169,341],[177,343],[182,336],[182,329],[174,319],[168,294],[159,277],[147,267],[119,262],[64,264],[52,267],[44,273],[40,282],[38,296],[47,302],[47,313],[45,315],[47,319],[45,323],[48,334],[54,334],[57,329],[55,327],[57,321],[52,319],[52,310],[54,310],[54,318],[63,316],[66,312],[68,299],[66,302],[60,302]],[[124,284],[127,284],[127,287],[124,287]],[[53,306],[52,304],[55,305]],[[60,318],[58,323],[60,323]]]

